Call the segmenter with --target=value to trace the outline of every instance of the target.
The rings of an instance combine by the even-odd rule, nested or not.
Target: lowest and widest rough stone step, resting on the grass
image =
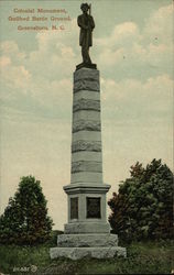
[[[51,258],[69,257],[72,260],[79,260],[85,256],[96,258],[108,258],[113,256],[127,256],[124,248],[53,248],[50,250]]]

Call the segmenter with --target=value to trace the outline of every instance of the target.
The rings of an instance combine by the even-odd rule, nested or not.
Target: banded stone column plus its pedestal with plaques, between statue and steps
[[[106,193],[102,182],[99,70],[74,73],[72,172],[66,233],[107,233]]]

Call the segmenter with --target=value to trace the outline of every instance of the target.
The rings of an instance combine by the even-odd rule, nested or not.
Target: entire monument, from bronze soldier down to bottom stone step
[[[50,254],[51,258],[65,256],[73,260],[126,256],[126,249],[118,246],[118,237],[110,234],[107,222],[106,194],[110,185],[102,180],[99,70],[89,56],[95,22],[88,14],[90,7],[83,3],[80,8],[83,14],[77,23],[83,63],[74,73],[72,172],[70,184],[64,186],[68,222]]]

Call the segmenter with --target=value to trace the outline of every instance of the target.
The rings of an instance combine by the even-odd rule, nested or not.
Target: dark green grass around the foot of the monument
[[[174,270],[174,241],[139,242],[127,246],[128,257],[51,261],[51,242],[36,246],[0,246],[0,273],[4,274],[171,274]],[[126,245],[126,244],[124,244]],[[37,266],[33,273],[31,266]],[[20,270],[28,267],[28,270]],[[28,272],[26,272],[28,271]]]

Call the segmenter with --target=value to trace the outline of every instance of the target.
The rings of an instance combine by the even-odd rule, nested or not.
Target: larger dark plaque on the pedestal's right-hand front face
[[[100,198],[86,198],[87,218],[101,218]]]

